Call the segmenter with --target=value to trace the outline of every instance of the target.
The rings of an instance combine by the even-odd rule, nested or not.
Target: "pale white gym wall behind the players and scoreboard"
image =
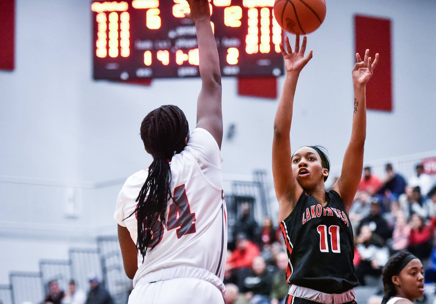
[[[112,211],[122,180],[151,161],[138,135],[142,118],[175,104],[194,128],[199,79],[150,87],[92,80],[90,3],[17,0],[16,68],[0,71],[0,251],[30,246],[37,260],[48,257],[47,247],[66,252],[70,243],[56,241],[59,233],[87,240],[116,233]],[[436,150],[434,0],[327,1],[324,24],[308,35],[313,59],[296,92],[293,148],[324,145],[332,166],[341,165],[353,109],[354,14],[392,20],[394,110],[368,111],[365,161]],[[222,145],[223,172],[269,172],[277,101],[238,96],[234,78],[223,78],[222,87],[224,131],[236,125]],[[102,187],[108,181],[115,182]],[[68,189],[79,193],[75,219],[64,216]],[[32,238],[47,233],[52,245],[40,250]],[[10,270],[36,267],[22,263],[27,255],[14,249],[0,256],[0,284]]]

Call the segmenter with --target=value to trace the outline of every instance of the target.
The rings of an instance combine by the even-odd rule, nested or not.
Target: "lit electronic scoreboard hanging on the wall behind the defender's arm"
[[[274,0],[209,0],[222,76],[279,76],[282,29]],[[199,77],[198,44],[186,0],[94,1],[93,77]]]

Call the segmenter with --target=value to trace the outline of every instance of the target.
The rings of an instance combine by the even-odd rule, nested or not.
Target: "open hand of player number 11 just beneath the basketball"
[[[300,48],[300,36],[296,35],[294,51],[292,51],[291,45],[289,44],[289,37],[285,37],[286,51],[283,43],[280,42],[280,51],[282,51],[287,72],[295,71],[300,73],[307,62],[309,62],[309,60],[312,58],[312,50],[310,50],[309,54],[304,57],[304,52],[306,51],[306,42],[307,37],[304,37]]]

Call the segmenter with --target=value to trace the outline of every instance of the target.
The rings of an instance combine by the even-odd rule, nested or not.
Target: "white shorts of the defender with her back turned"
[[[221,290],[193,277],[137,284],[128,304],[224,304]]]

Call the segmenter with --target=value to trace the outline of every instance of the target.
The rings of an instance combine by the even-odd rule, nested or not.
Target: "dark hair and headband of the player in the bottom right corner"
[[[381,272],[381,278],[383,281],[383,291],[385,292],[381,304],[386,302],[395,294],[397,290],[395,284],[392,282],[392,277],[398,275],[401,270],[413,259],[417,259],[412,253],[407,251],[400,251],[395,253],[386,263]]]

